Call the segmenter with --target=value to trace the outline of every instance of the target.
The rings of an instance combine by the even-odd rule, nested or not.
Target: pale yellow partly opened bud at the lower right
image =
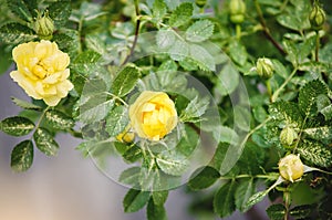
[[[300,159],[300,155],[287,155],[279,161],[279,172],[286,180],[293,182],[302,177],[304,165]]]

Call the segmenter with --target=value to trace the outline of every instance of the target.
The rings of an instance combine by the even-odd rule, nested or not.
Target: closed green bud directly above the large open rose
[[[54,31],[54,22],[49,17],[49,13],[45,12],[44,15],[38,15],[35,22],[34,22],[34,31],[38,35],[40,35],[42,39],[51,39],[49,36],[52,36]]]

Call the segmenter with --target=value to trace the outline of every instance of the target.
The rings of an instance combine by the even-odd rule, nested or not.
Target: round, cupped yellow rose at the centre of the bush
[[[131,125],[139,137],[159,140],[177,125],[174,102],[163,92],[143,92],[129,107]]]

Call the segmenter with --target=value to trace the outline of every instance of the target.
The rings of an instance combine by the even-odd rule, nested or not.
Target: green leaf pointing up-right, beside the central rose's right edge
[[[198,98],[198,96],[195,96],[194,99],[190,101],[190,103],[187,105],[187,107],[181,112],[181,121],[183,122],[196,122],[199,119],[201,115],[206,112],[207,107],[209,105],[209,98]]]

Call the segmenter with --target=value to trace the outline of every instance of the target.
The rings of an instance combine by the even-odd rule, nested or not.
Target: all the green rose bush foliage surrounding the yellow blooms
[[[195,191],[188,193],[200,219],[247,212],[268,196],[270,219],[331,217],[326,0],[317,2],[326,14],[320,30],[309,21],[310,0],[243,1],[248,13],[241,23],[231,21],[230,0],[0,1],[0,74],[12,65],[14,46],[41,40],[35,18],[49,13],[55,25],[51,41],[69,54],[74,85],[53,107],[12,97],[22,112],[3,118],[0,130],[28,136],[12,150],[13,170],[31,167],[34,147],[55,156],[56,135],[65,133],[83,139],[76,149],[104,172],[113,170],[115,157],[127,164],[115,177],[132,187],[124,211],[146,207],[149,220],[167,219],[168,193],[183,184]],[[274,69],[269,80],[257,72],[264,57]],[[178,124],[160,140],[139,137],[132,127],[128,109],[143,91],[165,92],[175,103]],[[154,115],[154,128],[163,116]],[[284,128],[298,134],[291,146],[280,139]],[[122,133],[133,139],[118,138]],[[288,154],[299,154],[305,165],[295,182],[277,170]]]

